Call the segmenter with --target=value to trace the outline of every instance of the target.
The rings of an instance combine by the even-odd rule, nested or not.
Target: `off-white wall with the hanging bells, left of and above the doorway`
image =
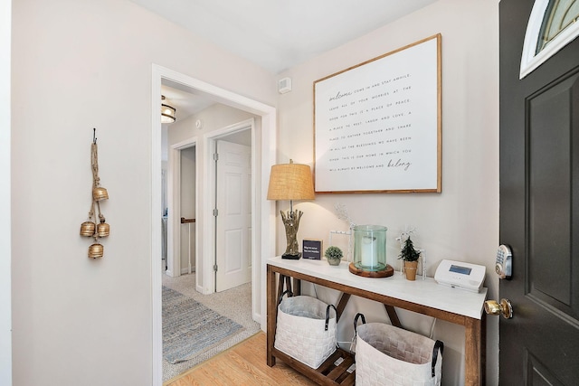
[[[269,105],[275,79],[128,1],[13,11],[14,385],[153,384],[151,64]],[[92,127],[110,197],[98,260],[79,236]]]

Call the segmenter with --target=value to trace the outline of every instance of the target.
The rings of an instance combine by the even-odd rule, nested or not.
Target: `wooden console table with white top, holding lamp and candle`
[[[278,274],[279,280],[278,280]],[[342,293],[337,306],[337,319],[351,295],[365,297],[384,304],[393,325],[400,326],[394,307],[422,315],[429,315],[465,327],[465,385],[482,385],[485,382],[485,314],[483,303],[487,288],[479,293],[441,286],[433,278],[409,281],[398,272],[390,278],[363,278],[349,272],[347,263],[330,266],[326,260],[281,259],[267,260],[267,363],[274,366],[276,357],[305,373],[319,384],[346,384],[327,379],[316,369],[292,360],[280,352],[275,342],[278,297],[284,285],[299,295],[300,281],[305,280]],[[337,353],[339,356],[340,353]],[[346,362],[346,361],[345,361]],[[324,366],[324,365],[322,365]],[[320,367],[322,367],[320,366]],[[336,369],[337,371],[337,369]]]

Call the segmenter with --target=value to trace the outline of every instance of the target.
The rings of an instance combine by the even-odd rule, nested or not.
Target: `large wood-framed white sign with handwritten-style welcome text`
[[[316,193],[441,192],[441,34],[314,82]]]

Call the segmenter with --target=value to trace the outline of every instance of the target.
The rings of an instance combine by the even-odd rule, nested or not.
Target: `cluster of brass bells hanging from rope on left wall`
[[[89,218],[81,223],[81,236],[91,237],[94,243],[89,247],[89,258],[102,258],[104,249],[100,244],[101,237],[109,236],[110,226],[105,216],[100,212],[100,202],[109,199],[107,189],[100,186],[99,178],[99,154],[97,147],[96,128],[93,129],[92,144],[90,145],[90,166],[92,168],[92,200],[90,203]],[[99,223],[96,223],[96,212],[99,212]]]

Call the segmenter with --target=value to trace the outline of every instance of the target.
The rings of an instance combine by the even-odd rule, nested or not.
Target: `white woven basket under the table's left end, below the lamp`
[[[329,308],[334,306],[315,297],[283,299],[278,306],[274,347],[317,369],[336,351],[336,312]]]

